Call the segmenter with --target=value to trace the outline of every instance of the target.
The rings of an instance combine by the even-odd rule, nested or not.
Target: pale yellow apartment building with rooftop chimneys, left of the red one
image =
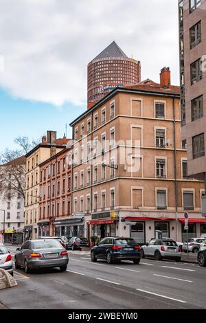
[[[47,137],[43,136],[41,144],[34,147],[26,157],[25,174],[25,227],[24,237],[37,238],[39,218],[39,183],[40,168],[43,161],[52,155],[62,151],[66,147],[66,137],[56,139],[56,131],[47,131]]]

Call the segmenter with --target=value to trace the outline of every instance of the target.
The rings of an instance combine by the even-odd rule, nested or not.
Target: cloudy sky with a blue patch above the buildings
[[[176,0],[0,0],[0,151],[18,135],[71,135],[87,109],[87,63],[113,40],[142,79],[179,84]],[[1,60],[3,58],[3,71]]]

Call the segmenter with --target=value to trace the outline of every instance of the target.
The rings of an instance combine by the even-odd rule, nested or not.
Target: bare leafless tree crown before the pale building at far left
[[[14,142],[19,149],[5,151],[0,155],[0,196],[3,199],[23,197],[25,199],[25,154],[27,154],[38,140],[30,142],[28,137],[17,137]]]

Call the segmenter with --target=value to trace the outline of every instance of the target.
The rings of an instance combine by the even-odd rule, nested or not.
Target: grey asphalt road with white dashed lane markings
[[[108,265],[91,263],[89,252],[69,252],[65,273],[18,269],[14,276],[18,287],[0,293],[10,309],[206,308],[206,268],[194,264],[144,259]]]

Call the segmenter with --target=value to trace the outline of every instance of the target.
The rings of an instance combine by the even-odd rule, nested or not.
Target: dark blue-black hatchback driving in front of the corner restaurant
[[[108,237],[103,238],[98,245],[91,249],[91,261],[106,259],[108,264],[121,260],[132,260],[139,264],[140,252],[139,245],[133,238]]]

